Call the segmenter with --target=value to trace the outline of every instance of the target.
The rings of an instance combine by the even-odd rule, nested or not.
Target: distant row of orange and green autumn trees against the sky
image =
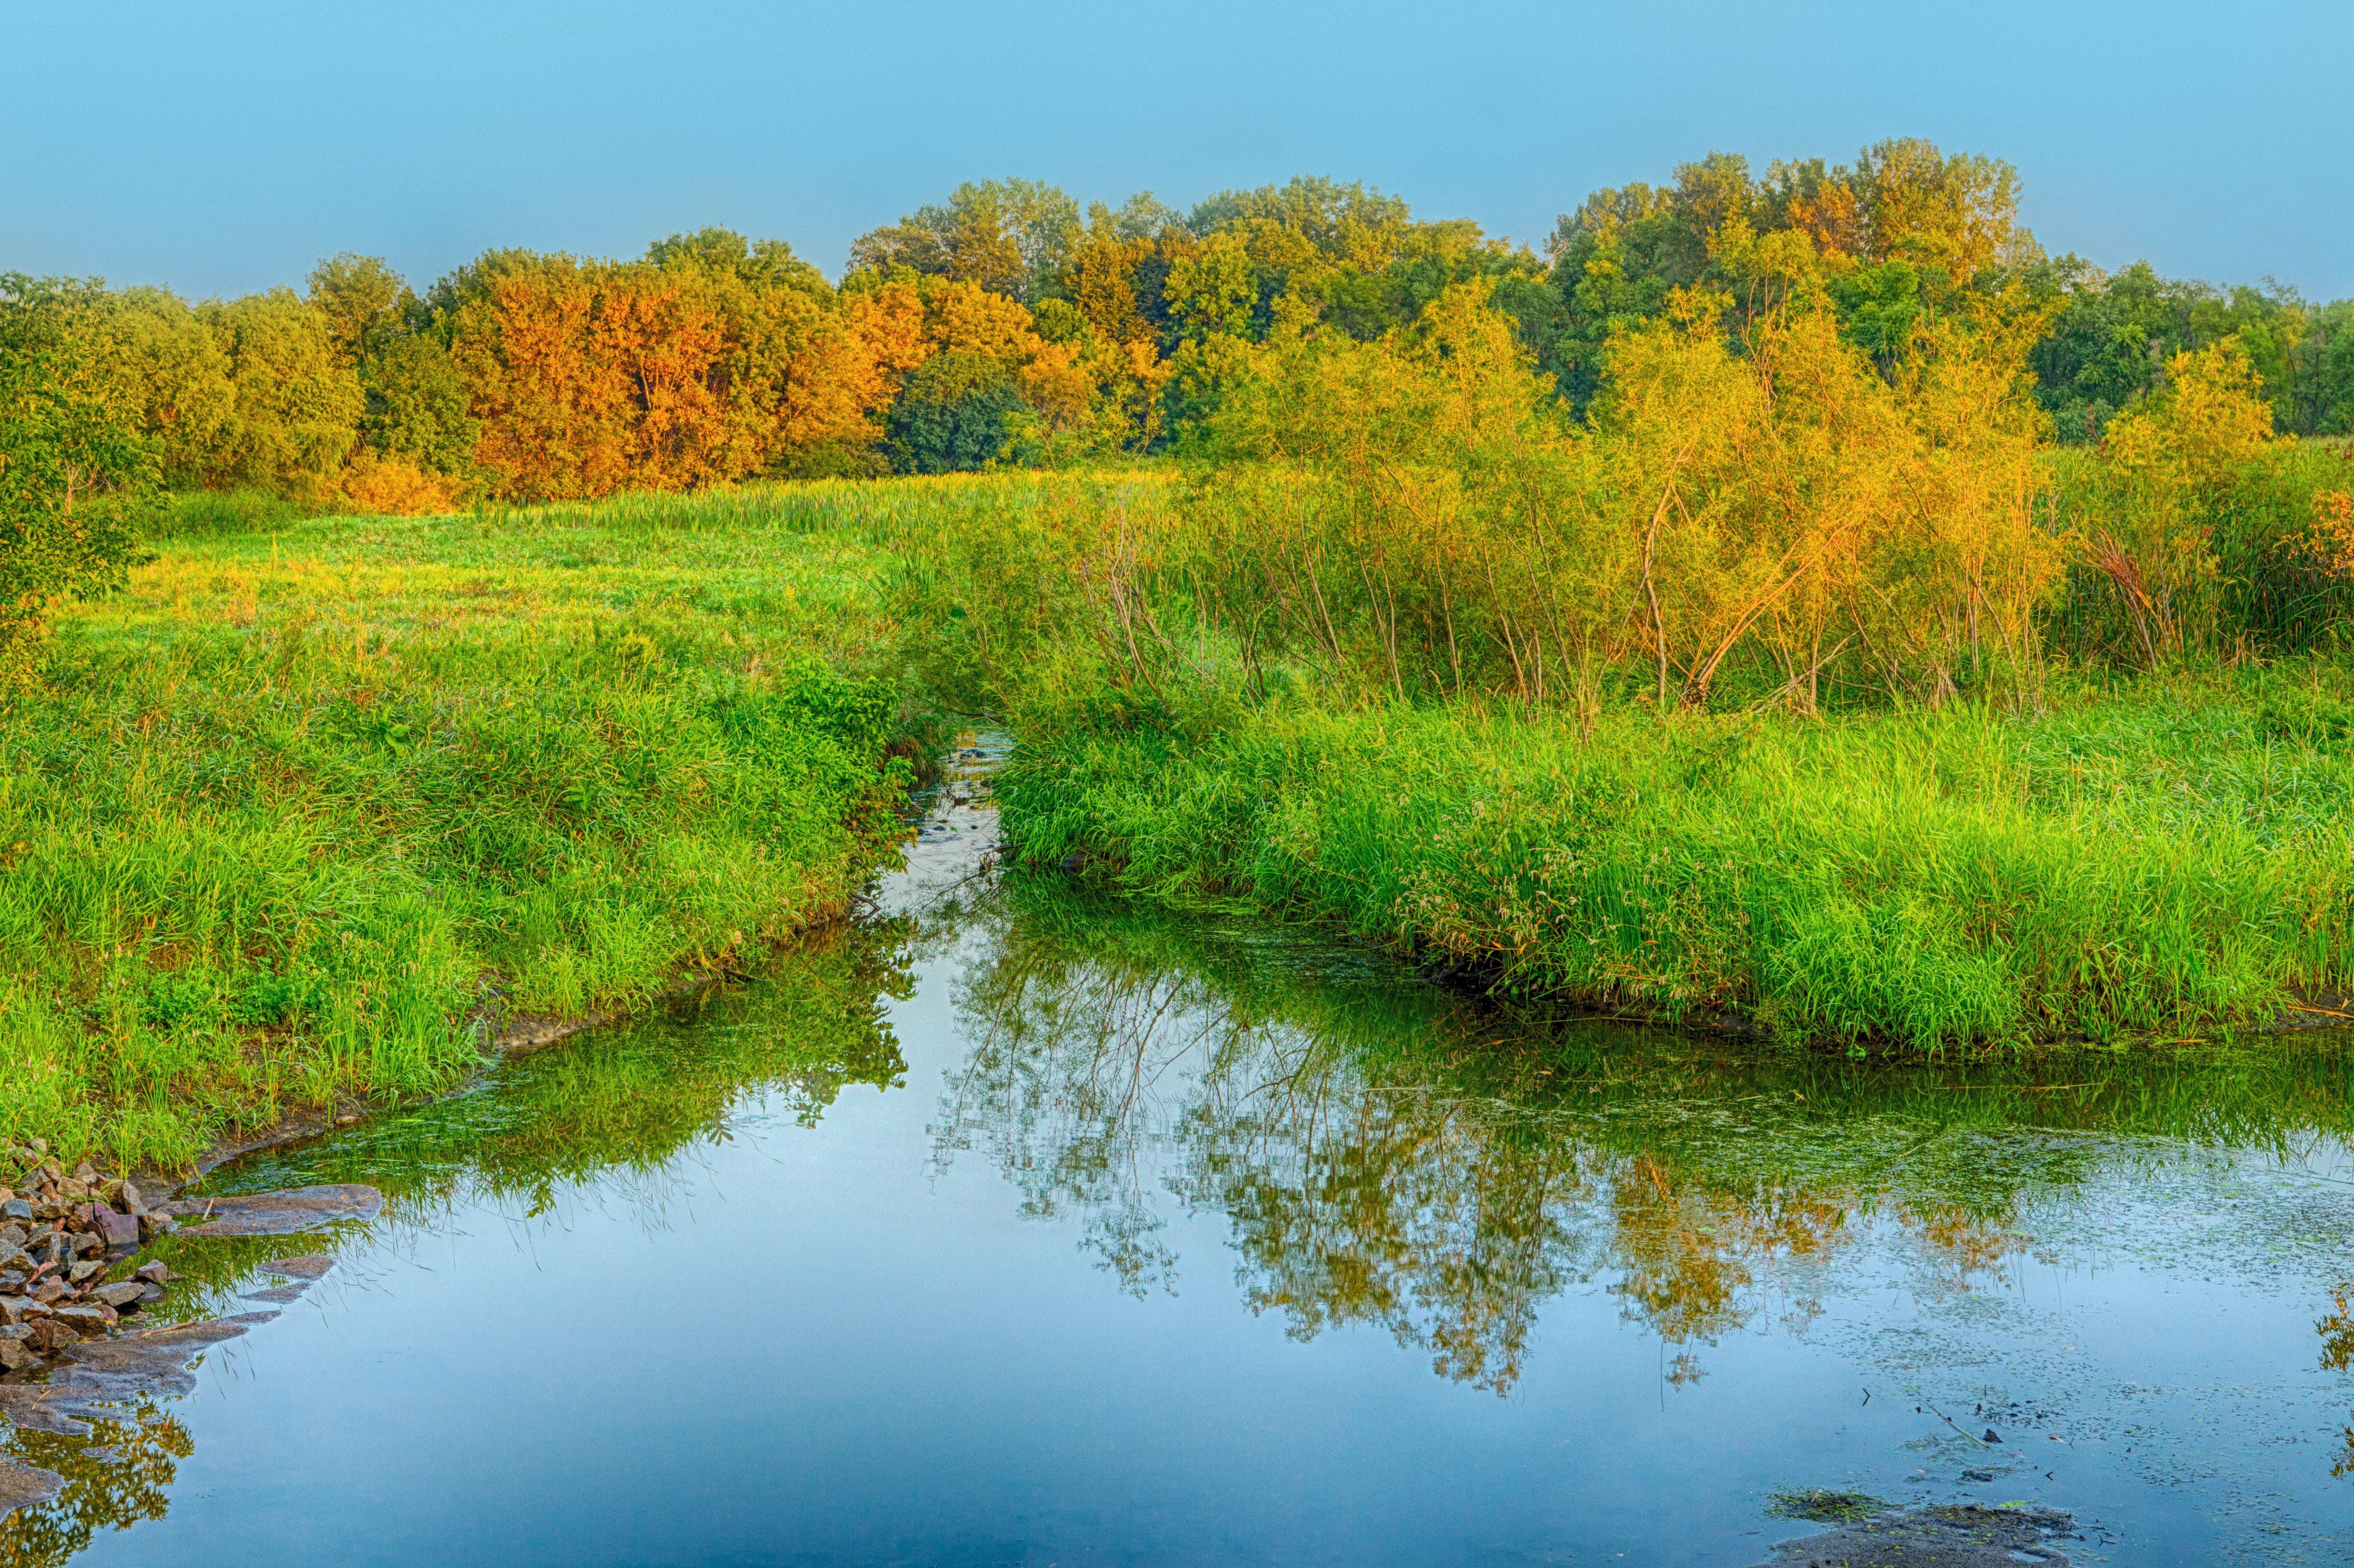
[[[1763,177],[1711,153],[1596,191],[1537,254],[1330,179],[1189,212],[1008,179],[859,238],[838,283],[706,228],[636,261],[494,250],[424,294],[341,254],[304,292],[5,278],[0,308],[85,344],[162,485],[374,511],[1184,450],[1271,339],[1379,339],[1467,283],[1580,417],[1612,334],[1711,297],[1737,341],[1803,278],[1890,377],[1937,323],[2013,332],[2060,443],[2225,341],[2279,433],[2354,433],[2354,301],[2048,257],[2017,195],[2010,165],[1926,141]]]

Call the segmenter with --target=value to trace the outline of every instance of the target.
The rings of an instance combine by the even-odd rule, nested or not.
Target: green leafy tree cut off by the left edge
[[[108,365],[97,280],[0,275],[0,690],[33,678],[49,607],[120,586],[155,452]]]

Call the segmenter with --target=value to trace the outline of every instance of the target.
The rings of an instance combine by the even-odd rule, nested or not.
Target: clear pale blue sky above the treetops
[[[419,287],[492,245],[725,224],[829,273],[960,179],[1189,205],[1290,174],[1542,242],[1711,148],[1928,137],[2043,242],[2354,294],[2354,5],[33,5],[0,28],[0,268]]]

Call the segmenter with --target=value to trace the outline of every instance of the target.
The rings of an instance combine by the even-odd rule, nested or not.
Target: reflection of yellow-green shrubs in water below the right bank
[[[937,1158],[979,1149],[1135,1293],[1175,1278],[1168,1198],[1217,1212],[1245,1300],[1295,1337],[1379,1326],[1499,1394],[1580,1281],[1683,1349],[1690,1380],[1693,1344],[1810,1321],[1822,1269],[1874,1231],[1911,1241],[1916,1288],[2001,1278],[2020,1191],[2090,1158],[1989,1172],[1982,1128],[1923,1132],[1911,1102],[1810,1111],[1787,1078],[1817,1059],[1631,1031],[1580,1057],[1429,986],[1048,916],[1008,918],[963,982],[972,1055]]]

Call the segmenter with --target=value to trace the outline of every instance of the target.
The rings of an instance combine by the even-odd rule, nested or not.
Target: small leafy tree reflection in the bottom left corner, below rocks
[[[64,1490],[0,1521],[0,1568],[49,1568],[80,1554],[99,1530],[162,1519],[188,1429],[155,1401],[125,1406],[120,1420],[92,1420],[92,1436],[9,1429],[0,1453],[66,1479]]]

